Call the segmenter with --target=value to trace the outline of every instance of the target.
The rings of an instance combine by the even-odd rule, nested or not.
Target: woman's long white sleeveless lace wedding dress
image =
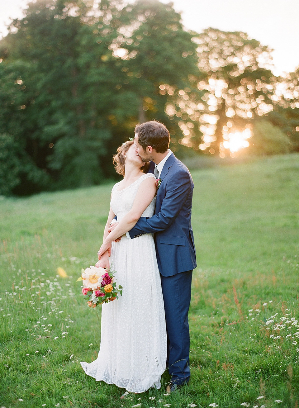
[[[137,190],[147,177],[155,176],[144,174],[123,190],[117,190],[119,183],[113,186],[111,208],[117,220],[132,208]],[[142,216],[151,217],[154,211],[155,199]],[[160,388],[167,340],[153,235],[134,239],[123,235],[120,242],[112,244],[110,262],[117,271],[117,285],[124,288],[123,294],[118,300],[102,305],[99,355],[92,363],[81,365],[96,381],[116,384],[127,391]]]

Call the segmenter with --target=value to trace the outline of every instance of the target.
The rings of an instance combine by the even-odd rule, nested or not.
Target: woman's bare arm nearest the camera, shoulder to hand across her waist
[[[120,222],[111,233],[104,236],[104,242],[98,253],[99,257],[107,251],[107,249],[111,245],[111,242],[113,242],[118,237],[121,237],[122,235],[124,235],[124,233],[133,228],[146,207],[148,207],[148,205],[155,197],[156,192],[157,187],[154,177],[148,177],[140,184],[131,210],[122,218],[122,220],[120,220]]]

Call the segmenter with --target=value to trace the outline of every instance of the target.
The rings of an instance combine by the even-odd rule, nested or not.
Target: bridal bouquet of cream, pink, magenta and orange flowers
[[[115,271],[111,271],[111,267],[108,271],[96,266],[91,266],[85,270],[82,268],[81,277],[77,279],[77,282],[83,281],[82,293],[89,307],[112,302],[118,299],[118,293],[122,295],[123,288],[121,285],[116,286],[114,273]]]

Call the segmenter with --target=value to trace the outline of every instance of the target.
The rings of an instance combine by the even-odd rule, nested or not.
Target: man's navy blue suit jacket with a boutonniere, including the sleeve
[[[163,276],[172,276],[196,266],[191,227],[193,180],[173,153],[166,160],[160,179],[155,214],[141,217],[129,234],[135,238],[154,233],[159,271]]]

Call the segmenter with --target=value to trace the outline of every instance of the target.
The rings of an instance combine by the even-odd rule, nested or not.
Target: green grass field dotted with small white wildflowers
[[[96,262],[112,185],[0,200],[1,407],[298,406],[299,155],[192,175],[191,379],[171,395],[164,374],[121,401],[80,366],[100,318],[75,281]]]

